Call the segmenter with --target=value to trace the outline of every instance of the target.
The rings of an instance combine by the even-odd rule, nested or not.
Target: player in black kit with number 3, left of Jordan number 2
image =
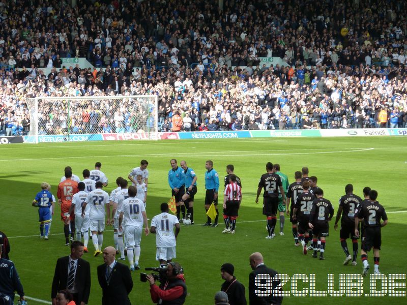
[[[338,228],[338,222],[339,219],[341,219],[339,237],[340,244],[346,256],[343,264],[347,265],[352,260],[352,265],[355,266],[359,248],[358,247],[359,236],[355,235],[355,216],[360,208],[362,198],[353,194],[353,185],[351,184],[345,186],[345,194],[346,195],[340,197],[339,199],[339,208],[336,214],[334,228],[335,230]],[[353,256],[351,256],[351,254],[349,253],[349,249],[347,248],[346,244],[347,238],[352,238]]]

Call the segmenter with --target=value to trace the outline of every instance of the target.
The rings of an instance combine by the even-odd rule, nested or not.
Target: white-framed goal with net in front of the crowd
[[[30,107],[30,136],[35,143],[53,135],[76,141],[83,134],[103,135],[95,139],[139,134],[138,138],[155,140],[157,104],[157,96],[38,97]]]

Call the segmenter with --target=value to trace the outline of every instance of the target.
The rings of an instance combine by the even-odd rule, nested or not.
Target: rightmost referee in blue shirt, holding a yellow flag
[[[208,160],[205,163],[205,168],[207,169],[207,171],[205,172],[205,188],[207,189],[205,195],[205,209],[208,212],[209,207],[211,206],[212,202],[214,202],[216,208],[216,218],[215,223],[211,224],[212,220],[208,216],[208,221],[203,226],[217,227],[219,217],[218,211],[219,175],[216,172],[216,170],[213,169],[213,162],[211,160]]]

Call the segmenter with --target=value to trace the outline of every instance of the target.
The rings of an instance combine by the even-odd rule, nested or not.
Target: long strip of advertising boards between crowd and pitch
[[[407,128],[372,129],[311,129],[311,130],[241,130],[241,131],[205,131],[205,132],[159,132],[153,134],[153,140],[189,140],[189,139],[242,139],[274,137],[355,137],[355,136],[407,136]],[[157,138],[158,137],[158,138]],[[148,133],[119,134],[71,134],[39,135],[40,143],[84,142],[84,141],[120,141],[148,140]],[[0,136],[0,144],[35,143],[35,136]]]

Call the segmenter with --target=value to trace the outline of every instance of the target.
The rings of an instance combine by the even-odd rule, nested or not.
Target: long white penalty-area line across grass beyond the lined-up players
[[[326,148],[326,149],[330,149],[330,148]],[[366,150],[372,150],[375,149],[374,147],[372,148],[363,148],[363,149],[354,149],[354,150],[337,150],[337,151],[309,151],[312,149],[307,149],[308,152],[306,153],[276,153],[276,154],[268,154],[268,156],[292,156],[292,155],[315,155],[315,154],[341,154],[341,153],[355,153],[358,151],[366,151]],[[255,150],[255,151],[263,151],[263,150]],[[265,151],[270,151],[270,150],[265,150]],[[265,152],[264,151],[264,152]],[[237,151],[237,152],[242,152]],[[222,155],[212,155],[213,153],[222,153]],[[205,155],[191,155],[191,157],[207,157],[208,155],[210,155],[211,157],[225,157],[225,158],[230,158],[230,156],[225,156],[225,153],[230,153],[230,151],[208,151]],[[231,153],[234,153],[233,151],[231,151]],[[251,151],[248,151],[248,153],[251,153]],[[111,157],[151,157],[151,158],[160,158],[160,157],[165,157],[165,156],[169,156],[169,157],[175,157],[175,156],[185,156],[188,153],[170,153],[170,154],[154,154],[154,155],[150,155],[150,154],[143,154],[143,155],[109,155],[109,156],[77,156],[77,157],[55,157],[55,158],[28,158],[28,159],[0,159],[0,162],[3,161],[35,161],[35,160],[61,160],[61,159],[89,159],[89,158],[111,158]],[[195,153],[189,153],[189,154],[195,154]],[[251,156],[265,156],[264,153],[262,154],[234,154],[233,156],[238,156],[238,157],[251,157]]]

